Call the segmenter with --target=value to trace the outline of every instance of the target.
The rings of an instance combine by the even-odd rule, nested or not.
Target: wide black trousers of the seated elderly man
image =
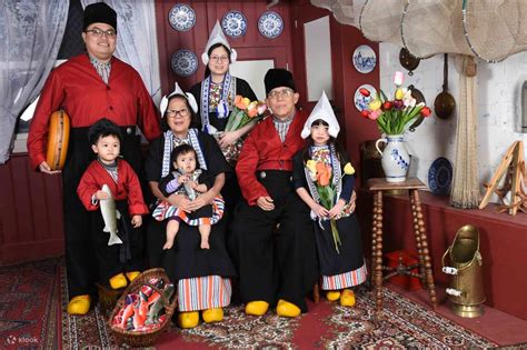
[[[272,197],[275,209],[265,211],[243,201],[235,212],[232,233],[241,299],[264,300],[271,306],[284,299],[306,312],[305,296],[318,276],[309,208],[294,191],[290,172],[266,170],[257,176]]]

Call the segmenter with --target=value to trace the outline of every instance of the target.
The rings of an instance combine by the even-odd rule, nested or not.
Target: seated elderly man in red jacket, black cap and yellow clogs
[[[309,208],[291,184],[307,116],[295,107],[299,96],[289,71],[270,69],[265,84],[272,117],[251,131],[236,166],[245,201],[232,223],[235,260],[247,314],[277,306],[279,316],[297,317],[307,311],[305,296],[317,279]]]

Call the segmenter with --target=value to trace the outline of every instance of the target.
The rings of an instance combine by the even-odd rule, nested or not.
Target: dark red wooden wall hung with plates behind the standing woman
[[[289,4],[278,4],[271,8],[272,11],[280,14],[285,28],[278,38],[268,39],[258,31],[258,19],[267,11],[267,1],[196,0],[179,2],[189,4],[196,11],[196,26],[189,31],[177,31],[168,21],[168,13],[176,2],[156,1],[159,66],[163,94],[173,89],[176,81],[186,90],[203,79],[205,66],[201,62],[201,53],[207,44],[209,33],[215,27],[216,20],[221,22],[223,14],[232,10],[242,12],[247,18],[248,26],[245,36],[240,38],[227,37],[230,46],[238,51],[238,60],[271,59],[275,61],[275,67],[294,69]],[[198,58],[198,70],[191,77],[179,77],[170,67],[172,54],[180,49],[191,50]]]

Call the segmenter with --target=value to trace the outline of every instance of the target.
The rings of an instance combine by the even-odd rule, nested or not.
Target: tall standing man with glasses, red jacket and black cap
[[[137,126],[148,140],[160,134],[159,117],[139,73],[113,57],[117,41],[117,13],[103,2],[84,9],[82,39],[87,53],[71,58],[51,71],[31,121],[28,151],[33,169],[53,174],[46,161],[49,117],[63,109],[71,131],[62,170],[66,267],[70,314],[86,314],[98,280],[97,262],[90,240],[90,217],[77,197],[80,178],[92,160],[88,128],[108,118],[121,128],[121,154],[141,173]],[[101,233],[102,234],[102,233]],[[133,279],[136,274],[127,276]],[[126,279],[120,284],[125,287]]]

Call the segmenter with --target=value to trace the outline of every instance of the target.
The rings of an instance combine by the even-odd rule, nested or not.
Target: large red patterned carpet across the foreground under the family
[[[61,310],[66,310],[64,269],[60,269]],[[284,319],[268,312],[248,317],[241,306],[225,311],[225,321],[200,324],[191,330],[171,327],[160,337],[158,349],[486,349],[496,344],[456,323],[384,289],[385,311],[375,317],[375,304],[367,288],[357,291],[357,306],[342,308],[321,301],[310,303],[310,312],[298,319]],[[64,349],[116,347],[98,308],[86,317],[61,313]]]

